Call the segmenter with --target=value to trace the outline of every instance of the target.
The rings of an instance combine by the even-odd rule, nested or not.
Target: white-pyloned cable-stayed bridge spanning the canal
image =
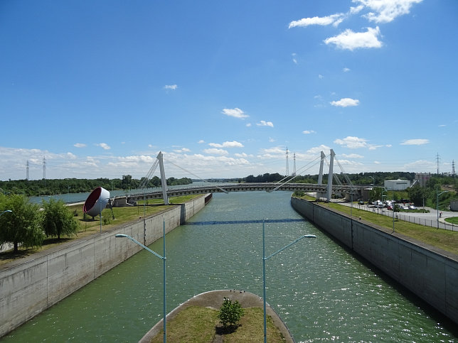
[[[209,183],[208,185],[199,185],[199,186],[190,186],[190,187],[180,187],[176,189],[168,189],[166,184],[166,177],[164,173],[164,163],[163,163],[163,156],[162,153],[159,152],[157,156],[157,160],[154,165],[149,170],[147,177],[144,178],[144,182],[142,183],[141,187],[146,187],[149,182],[149,178],[153,175],[154,170],[159,165],[159,170],[161,173],[161,191],[148,191],[147,189],[144,192],[136,194],[136,195],[129,195],[127,197],[127,202],[133,203],[139,200],[150,200],[150,199],[159,199],[163,198],[164,203],[166,205],[169,204],[169,197],[177,197],[181,195],[193,195],[193,194],[208,194],[208,193],[217,193],[217,192],[252,192],[252,191],[265,191],[265,192],[274,192],[274,191],[303,191],[303,192],[313,192],[316,193],[316,197],[324,198],[327,201],[331,200],[333,194],[340,194],[340,195],[349,195],[353,197],[353,199],[358,199],[363,194],[363,189],[366,189],[367,186],[358,186],[352,185],[351,181],[348,179],[348,176],[344,173],[346,177],[346,185],[343,185],[339,178],[336,178],[336,175],[333,173],[334,167],[334,156],[335,153],[331,149],[330,153],[330,162],[326,160],[326,156],[321,151],[321,156],[316,158],[316,163],[320,163],[319,169],[319,178],[318,184],[312,183],[292,183],[294,180],[295,175],[289,175],[284,180],[280,180],[277,183],[223,183],[220,185],[215,185]],[[329,175],[328,175],[328,183],[324,185],[321,183],[323,180],[323,163],[329,165]],[[339,163],[339,161],[337,161]],[[176,165],[179,167],[179,165]],[[340,163],[339,166],[341,167]],[[179,167],[181,168],[181,167]],[[342,167],[341,167],[342,170]],[[188,170],[185,170],[188,171]],[[343,172],[343,170],[342,170]],[[190,173],[190,172],[188,172]],[[192,174],[192,173],[191,173]],[[196,175],[194,175],[196,176]],[[333,177],[334,176],[334,177]],[[332,181],[333,178],[336,179],[337,185],[333,185]],[[205,180],[203,180],[205,181]]]

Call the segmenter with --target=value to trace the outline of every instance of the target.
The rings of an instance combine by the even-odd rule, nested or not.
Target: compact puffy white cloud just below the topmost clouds
[[[337,48],[354,50],[357,48],[381,48],[378,40],[380,28],[368,28],[366,32],[353,32],[349,28],[338,36],[326,38],[324,43],[334,44]]]

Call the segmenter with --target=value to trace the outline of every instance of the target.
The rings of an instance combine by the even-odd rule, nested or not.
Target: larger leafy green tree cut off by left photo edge
[[[0,208],[13,211],[0,217],[0,244],[13,243],[15,253],[19,244],[26,248],[43,244],[45,234],[38,204],[28,202],[23,195],[1,195]]]

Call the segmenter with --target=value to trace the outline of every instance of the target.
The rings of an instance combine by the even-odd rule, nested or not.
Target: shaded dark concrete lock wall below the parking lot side
[[[458,323],[456,255],[352,220],[314,202],[292,197],[291,203],[310,222]]]

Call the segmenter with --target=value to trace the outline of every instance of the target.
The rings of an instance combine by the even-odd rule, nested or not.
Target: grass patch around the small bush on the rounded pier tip
[[[261,307],[245,308],[245,315],[232,332],[223,333],[218,320],[218,310],[208,307],[190,306],[179,312],[173,320],[167,321],[167,340],[169,342],[213,342],[221,335],[221,341],[215,342],[263,342],[264,312]],[[163,342],[161,330],[151,343]],[[267,316],[267,342],[283,342],[282,333]]]

